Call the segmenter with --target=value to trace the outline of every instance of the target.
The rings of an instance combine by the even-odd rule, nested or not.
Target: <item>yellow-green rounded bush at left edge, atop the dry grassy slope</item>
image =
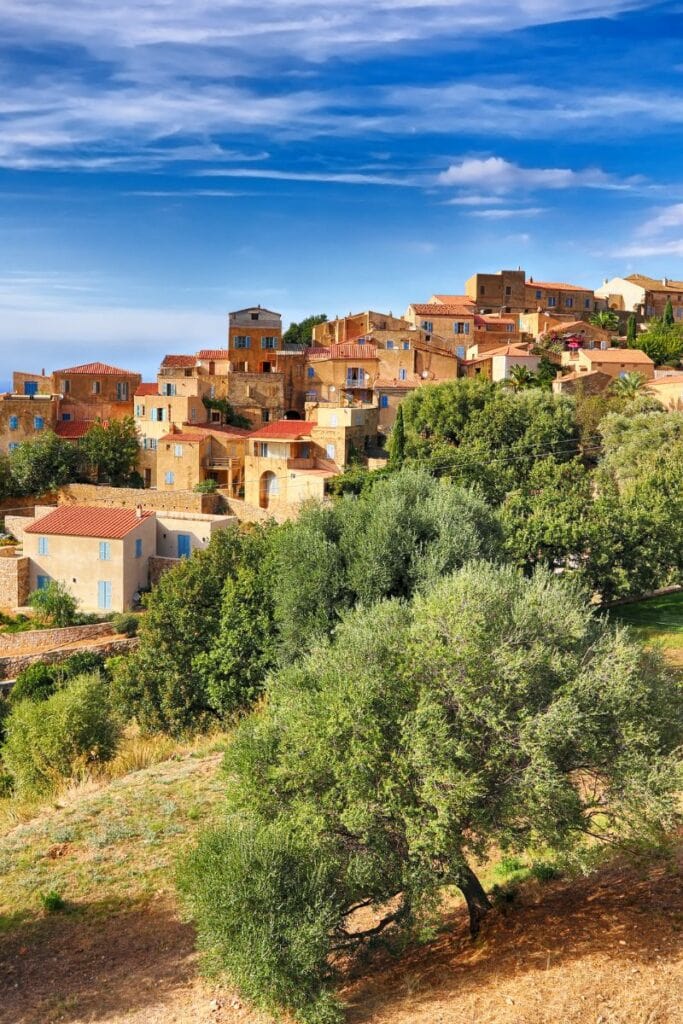
[[[20,796],[49,793],[115,753],[120,726],[98,675],[79,676],[46,700],[22,700],[6,721],[5,768]]]

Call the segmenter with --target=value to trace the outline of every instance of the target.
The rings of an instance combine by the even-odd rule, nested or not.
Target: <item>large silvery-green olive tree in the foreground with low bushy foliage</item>
[[[339,1021],[340,958],[433,935],[444,887],[477,932],[493,850],[659,838],[682,711],[657,655],[551,572],[472,563],[358,609],[237,730],[224,821],[180,874],[201,944],[259,1006]]]

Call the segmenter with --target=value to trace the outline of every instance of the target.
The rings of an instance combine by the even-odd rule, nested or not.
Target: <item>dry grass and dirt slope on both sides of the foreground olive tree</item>
[[[0,837],[2,1024],[265,1024],[202,981],[171,866],[219,805],[219,753],[77,791]],[[67,912],[46,914],[55,889]],[[349,1024],[679,1024],[679,869],[527,884],[472,945],[436,941],[349,980]]]

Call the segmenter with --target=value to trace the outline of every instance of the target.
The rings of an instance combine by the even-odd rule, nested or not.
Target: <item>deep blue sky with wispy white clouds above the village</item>
[[[683,4],[2,0],[0,381],[521,264],[683,278]]]

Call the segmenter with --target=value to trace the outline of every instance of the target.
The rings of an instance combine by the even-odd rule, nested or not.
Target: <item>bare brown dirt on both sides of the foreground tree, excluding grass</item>
[[[472,944],[465,916],[343,989],[348,1024],[681,1024],[683,878],[611,868],[527,886]],[[167,896],[0,936],[2,1024],[265,1024],[198,976]]]

